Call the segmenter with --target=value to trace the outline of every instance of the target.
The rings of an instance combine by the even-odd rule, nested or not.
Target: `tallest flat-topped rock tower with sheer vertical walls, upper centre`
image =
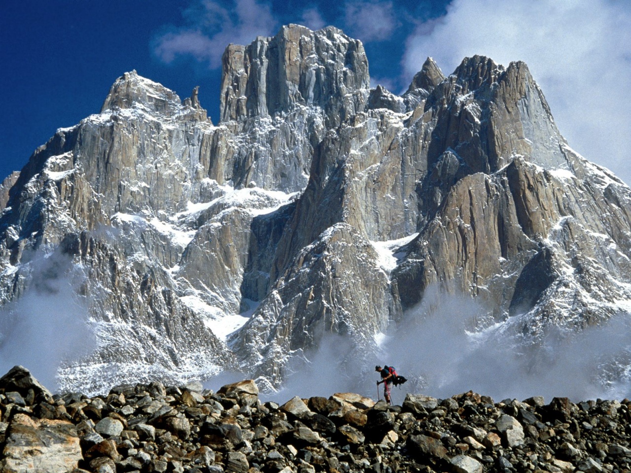
[[[347,93],[367,89],[368,60],[362,42],[328,26],[313,32],[283,26],[274,37],[223,54],[221,120],[272,116],[293,105],[327,108]]]

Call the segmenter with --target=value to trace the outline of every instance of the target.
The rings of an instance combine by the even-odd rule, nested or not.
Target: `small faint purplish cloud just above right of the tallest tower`
[[[392,2],[352,2],[346,5],[346,26],[363,42],[390,39],[396,27]]]

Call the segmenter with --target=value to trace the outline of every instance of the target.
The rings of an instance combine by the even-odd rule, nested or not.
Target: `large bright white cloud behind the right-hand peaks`
[[[570,146],[631,184],[629,25],[623,0],[453,0],[408,38],[404,69],[427,56],[445,73],[474,54],[525,61]]]

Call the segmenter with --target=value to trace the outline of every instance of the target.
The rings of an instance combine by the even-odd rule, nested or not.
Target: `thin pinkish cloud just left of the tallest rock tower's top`
[[[269,36],[278,26],[267,3],[257,0],[225,2],[205,0],[187,9],[189,25],[173,28],[156,38],[153,51],[169,64],[180,55],[208,61],[209,67],[221,67],[221,55],[228,44],[250,44],[257,36]]]

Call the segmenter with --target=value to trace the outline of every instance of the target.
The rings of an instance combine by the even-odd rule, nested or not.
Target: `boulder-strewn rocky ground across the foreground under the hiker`
[[[494,402],[357,394],[261,402],[222,387],[50,395],[16,366],[0,379],[0,472],[617,473],[631,462],[631,401]]]

